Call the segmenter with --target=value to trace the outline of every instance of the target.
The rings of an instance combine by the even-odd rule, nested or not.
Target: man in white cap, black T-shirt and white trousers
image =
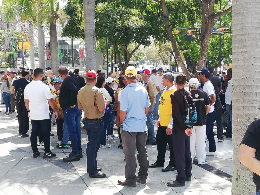
[[[199,90],[199,80],[197,78],[191,78],[189,80],[191,89],[191,95],[193,97],[196,111],[197,111],[197,123],[192,128],[191,136],[191,160],[193,161],[195,156],[195,145],[198,164],[206,164],[206,122],[207,114],[210,111],[211,100],[205,91]]]

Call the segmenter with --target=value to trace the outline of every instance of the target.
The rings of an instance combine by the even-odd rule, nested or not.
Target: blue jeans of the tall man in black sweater
[[[64,122],[69,130],[70,141],[72,145],[72,155],[79,153],[81,148],[81,110],[75,108],[67,108],[64,110]]]

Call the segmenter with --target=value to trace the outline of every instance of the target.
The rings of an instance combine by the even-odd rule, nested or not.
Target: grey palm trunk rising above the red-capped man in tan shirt
[[[95,1],[83,0],[86,70],[96,70]]]

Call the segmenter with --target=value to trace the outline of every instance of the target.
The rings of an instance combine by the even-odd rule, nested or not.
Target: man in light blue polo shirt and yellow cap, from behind
[[[146,89],[136,83],[137,71],[133,66],[125,70],[127,86],[121,92],[120,123],[123,125],[120,133],[125,153],[125,178],[118,180],[122,186],[136,186],[136,181],[146,183],[149,168],[146,152],[146,115],[151,105]],[[140,165],[138,177],[135,175],[136,160],[135,148],[138,151],[137,159]]]

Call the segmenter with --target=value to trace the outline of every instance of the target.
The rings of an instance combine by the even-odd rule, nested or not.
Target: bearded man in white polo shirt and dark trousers
[[[33,150],[33,158],[40,156],[37,148],[37,136],[39,131],[42,131],[44,142],[43,158],[55,157],[56,154],[50,151],[50,111],[49,105],[54,110],[54,116],[57,118],[57,107],[51,95],[48,85],[43,83],[44,70],[36,68],[34,70],[35,80],[28,84],[24,89],[24,103],[28,111],[28,116],[31,119],[31,147]],[[31,96],[31,91],[34,95]]]

